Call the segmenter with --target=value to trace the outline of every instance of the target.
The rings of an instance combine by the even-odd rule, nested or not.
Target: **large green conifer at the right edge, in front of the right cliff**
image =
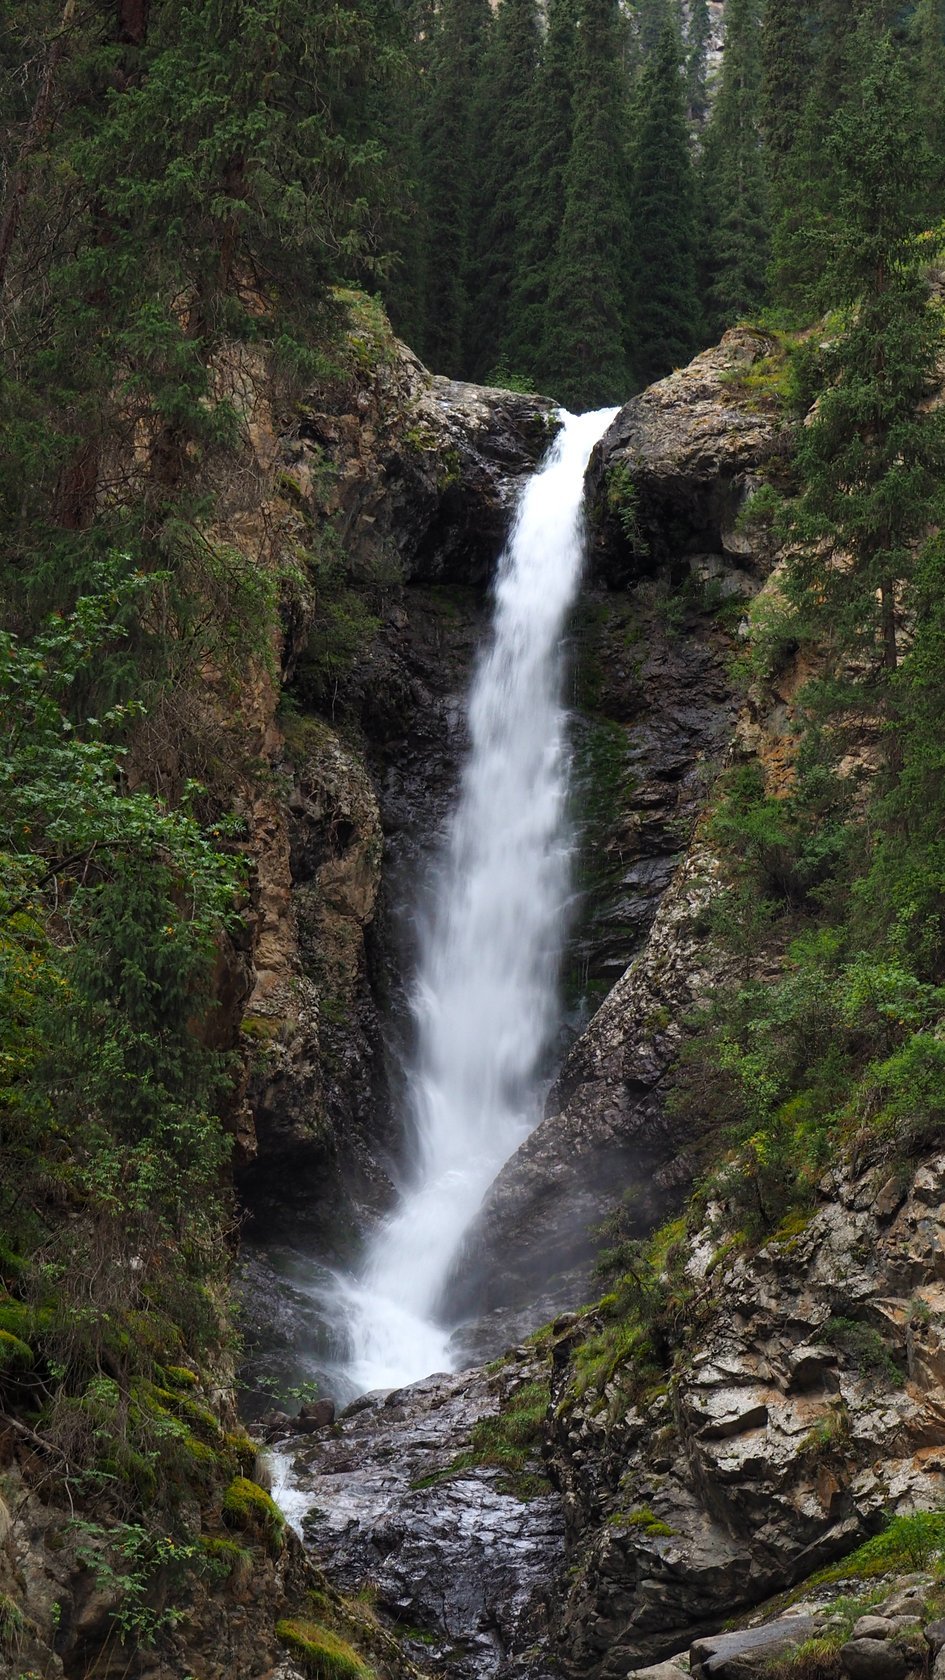
[[[928,153],[901,57],[869,22],[854,60],[856,96],[829,134],[839,197],[827,282],[851,312],[800,440],[795,580],[837,652],[869,660],[878,680],[896,669],[896,591],[937,512],[945,413],[927,403],[942,349],[918,244]]]

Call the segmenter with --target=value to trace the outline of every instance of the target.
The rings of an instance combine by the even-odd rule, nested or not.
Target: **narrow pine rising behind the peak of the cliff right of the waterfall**
[[[701,168],[711,333],[765,301],[768,205],[762,163],[760,0],[728,0],[720,87]]]

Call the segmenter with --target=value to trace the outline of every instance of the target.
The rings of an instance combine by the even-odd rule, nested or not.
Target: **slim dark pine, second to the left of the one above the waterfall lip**
[[[469,375],[479,380],[496,373],[499,346],[508,333],[515,272],[521,262],[538,49],[536,0],[501,0],[474,119],[478,180],[472,188],[464,361]]]

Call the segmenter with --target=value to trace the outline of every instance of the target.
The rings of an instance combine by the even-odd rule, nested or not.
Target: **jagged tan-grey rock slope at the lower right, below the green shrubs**
[[[940,1505],[945,1156],[898,1198],[883,1196],[890,1178],[888,1164],[831,1174],[809,1225],[753,1257],[713,1268],[716,1240],[696,1240],[703,1329],[649,1401],[620,1373],[602,1396],[568,1394],[558,1346],[570,1673],[619,1680],[841,1557],[884,1512]],[[837,1319],[861,1327],[859,1362],[837,1349]]]

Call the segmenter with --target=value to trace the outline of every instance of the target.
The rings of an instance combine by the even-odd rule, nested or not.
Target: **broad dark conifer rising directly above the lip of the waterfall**
[[[580,408],[629,393],[627,86],[620,45],[617,0],[580,0],[565,210],[540,358],[553,395]]]

